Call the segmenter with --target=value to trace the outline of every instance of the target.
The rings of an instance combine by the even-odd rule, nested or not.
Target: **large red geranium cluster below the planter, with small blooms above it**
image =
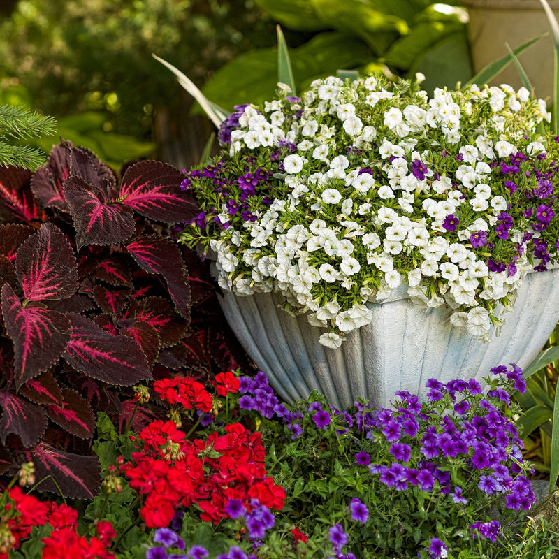
[[[216,377],[218,391],[238,390],[233,373],[221,375]],[[175,380],[158,381],[156,391],[168,402],[180,393],[181,386],[198,384]],[[200,391],[194,392],[198,398]],[[191,407],[190,402],[186,407]],[[202,520],[214,523],[226,518],[230,499],[242,500],[247,510],[254,498],[268,508],[283,508],[284,489],[266,477],[261,434],[246,430],[240,423],[226,426],[225,431],[222,436],[214,432],[207,440],[189,442],[173,421],[154,421],[140,432],[143,451],[133,453],[134,463],[122,465],[121,470],[129,477],[130,486],[146,495],[141,514],[147,526],[166,527],[177,507],[194,503],[202,509]]]

